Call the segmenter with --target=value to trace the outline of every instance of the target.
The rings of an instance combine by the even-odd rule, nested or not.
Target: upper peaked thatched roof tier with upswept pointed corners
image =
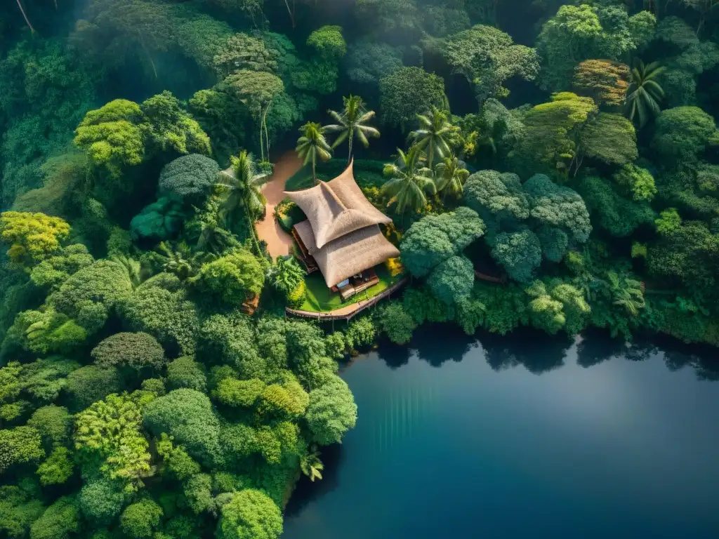
[[[320,182],[310,189],[285,192],[307,216],[318,248],[367,226],[392,222],[372,206],[354,181],[353,163],[334,180]]]

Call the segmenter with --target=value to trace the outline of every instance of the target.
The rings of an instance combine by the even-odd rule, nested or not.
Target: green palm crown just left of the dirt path
[[[265,210],[265,197],[260,188],[270,176],[257,169],[252,154],[245,149],[237,157],[230,157],[230,162],[232,165],[220,172],[217,182],[225,193],[223,210],[231,216],[238,206],[242,206],[252,224]]]

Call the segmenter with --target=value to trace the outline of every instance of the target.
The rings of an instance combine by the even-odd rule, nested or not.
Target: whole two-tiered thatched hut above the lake
[[[319,269],[342,299],[375,285],[379,279],[372,268],[399,256],[378,226],[392,220],[367,200],[352,165],[334,180],[284,193],[307,216],[292,231],[303,263],[308,272]]]

